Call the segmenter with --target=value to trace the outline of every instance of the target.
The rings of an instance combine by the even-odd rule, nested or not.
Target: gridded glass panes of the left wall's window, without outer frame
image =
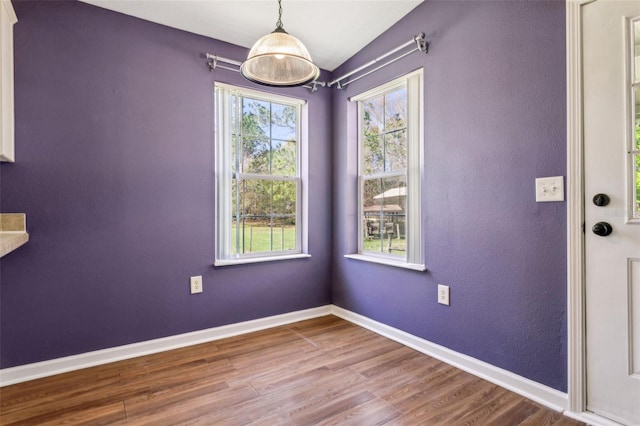
[[[235,255],[296,250],[297,108],[241,97]],[[262,177],[259,177],[262,176]],[[265,179],[266,178],[266,179]],[[286,207],[282,207],[286,206]]]

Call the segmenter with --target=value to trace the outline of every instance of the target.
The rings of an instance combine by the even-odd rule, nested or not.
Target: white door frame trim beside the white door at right
[[[614,425],[586,409],[584,144],[582,113],[582,7],[566,1],[567,49],[567,411],[597,425]]]

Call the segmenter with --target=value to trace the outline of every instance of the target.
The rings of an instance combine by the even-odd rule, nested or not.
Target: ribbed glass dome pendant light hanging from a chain
[[[253,45],[240,66],[244,78],[265,86],[294,87],[316,80],[320,69],[304,44],[282,27],[282,0],[278,0],[276,29]]]

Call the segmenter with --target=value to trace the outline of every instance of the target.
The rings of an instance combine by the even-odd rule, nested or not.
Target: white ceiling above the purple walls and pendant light
[[[83,1],[247,48],[278,20],[276,0]],[[320,68],[333,71],[422,1],[283,0],[282,23]]]

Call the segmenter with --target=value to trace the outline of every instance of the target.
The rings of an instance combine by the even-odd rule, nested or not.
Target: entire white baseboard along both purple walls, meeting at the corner
[[[330,314],[516,392],[553,410],[565,411],[567,409],[568,398],[566,393],[335,305],[321,306],[146,342],[5,368],[0,370],[0,386],[8,386],[68,371],[211,342]]]

